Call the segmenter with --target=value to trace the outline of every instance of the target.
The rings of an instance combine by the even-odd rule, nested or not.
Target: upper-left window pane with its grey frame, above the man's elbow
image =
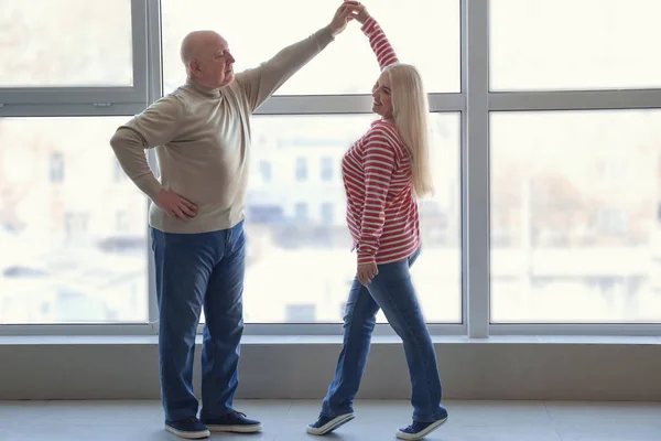
[[[158,1],[158,0],[156,0]],[[149,101],[154,0],[2,0],[0,117],[133,115]],[[153,52],[153,51],[152,51]]]

